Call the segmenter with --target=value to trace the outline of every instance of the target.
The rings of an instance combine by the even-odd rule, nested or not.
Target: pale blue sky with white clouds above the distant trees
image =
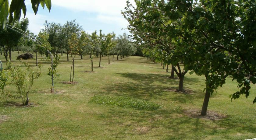
[[[25,0],[27,5],[26,17],[30,21],[29,30],[38,34],[44,28],[44,21],[65,24],[66,21],[76,19],[82,28],[92,33],[102,30],[103,33],[114,31],[116,35],[129,33],[126,28],[128,22],[123,18],[121,10],[126,6],[126,0],[52,0],[52,9],[41,6],[35,16],[30,0]],[[133,0],[131,3],[134,5]],[[46,8],[46,7],[45,7]]]

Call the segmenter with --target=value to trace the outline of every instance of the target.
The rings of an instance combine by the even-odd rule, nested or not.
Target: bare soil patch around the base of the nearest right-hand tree
[[[205,116],[201,116],[201,110],[185,110],[184,114],[187,115],[188,117],[204,118],[204,119],[216,120],[216,121],[221,120],[226,117],[223,114],[218,114],[211,110],[208,110],[207,114]]]

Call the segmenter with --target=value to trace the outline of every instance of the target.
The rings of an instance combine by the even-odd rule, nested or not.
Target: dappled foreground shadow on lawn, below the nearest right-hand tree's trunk
[[[118,118],[118,119],[117,119]],[[247,134],[254,133],[256,128],[244,125],[243,118],[225,118],[219,121],[204,120],[202,118],[186,117],[179,109],[175,110],[156,110],[156,111],[136,111],[120,110],[111,108],[103,114],[99,114],[98,119],[104,120],[106,126],[120,128],[112,131],[117,138],[125,138],[126,132],[133,135],[145,135],[154,133],[155,137],[163,136],[164,139],[190,139],[199,135],[198,139],[214,138],[222,135],[229,139],[228,134],[239,132]],[[137,128],[146,127],[147,131],[138,131]],[[130,130],[130,131],[129,131]],[[161,131],[161,132],[160,132]],[[231,137],[232,138],[232,137]]]

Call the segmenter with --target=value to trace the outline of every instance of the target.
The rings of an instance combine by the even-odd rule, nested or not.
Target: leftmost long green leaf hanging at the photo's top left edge
[[[9,15],[9,1],[8,0],[1,0],[0,1],[0,21],[1,21],[1,26],[2,26],[2,29],[5,28],[5,23],[6,23],[6,20],[7,20],[7,17]]]

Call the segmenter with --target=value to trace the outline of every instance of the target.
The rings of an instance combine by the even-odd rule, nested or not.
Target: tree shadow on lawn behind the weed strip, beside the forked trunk
[[[128,96],[133,98],[139,98],[144,100],[150,100],[151,98],[158,99],[159,96],[165,96],[169,94],[167,91],[169,89],[177,89],[179,86],[179,79],[170,79],[169,75],[163,74],[139,74],[139,73],[116,73],[123,77],[126,77],[132,81],[116,81],[111,85],[105,86],[103,94],[111,94],[117,96]],[[190,81],[197,82],[199,79],[187,78]],[[187,87],[185,86],[185,89]],[[202,91],[193,91],[194,93],[202,93]],[[195,98],[203,98],[203,94],[187,94],[187,93],[176,93],[174,94],[184,94],[185,96],[177,97],[176,100],[181,103],[187,100],[192,100]],[[170,100],[170,99],[163,99]]]

